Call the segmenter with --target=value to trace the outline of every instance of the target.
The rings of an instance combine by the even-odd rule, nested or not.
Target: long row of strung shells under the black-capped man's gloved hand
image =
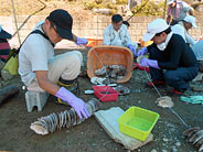
[[[87,104],[87,110],[92,116],[96,110],[98,110],[100,106],[99,100],[92,98]],[[72,126],[79,124],[83,122],[85,118],[79,119],[77,113],[73,108],[70,110],[61,111],[58,113],[51,113],[46,117],[41,117],[38,121],[31,123],[30,129],[33,130],[36,134],[49,134],[50,132],[54,132],[56,130],[61,130],[62,128],[70,128]]]

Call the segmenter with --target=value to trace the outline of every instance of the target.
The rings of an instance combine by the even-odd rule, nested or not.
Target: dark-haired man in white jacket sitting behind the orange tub
[[[138,44],[131,41],[128,29],[122,23],[122,17],[120,14],[114,14],[111,24],[105,29],[103,34],[103,45],[128,47],[136,56]]]

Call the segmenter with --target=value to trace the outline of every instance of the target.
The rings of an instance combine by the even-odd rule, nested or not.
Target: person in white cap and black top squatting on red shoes
[[[182,36],[171,32],[165,20],[157,19],[148,25],[142,40],[153,41],[137,53],[141,56],[149,52],[149,58],[140,57],[140,65],[150,67],[153,85],[167,84],[174,94],[189,89],[189,82],[197,75],[199,67],[193,51]],[[147,85],[152,86],[151,82]]]

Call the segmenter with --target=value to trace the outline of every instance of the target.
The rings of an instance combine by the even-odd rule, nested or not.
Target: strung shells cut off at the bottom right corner
[[[200,127],[193,127],[183,132],[186,142],[199,148],[199,152],[203,152],[203,130]]]

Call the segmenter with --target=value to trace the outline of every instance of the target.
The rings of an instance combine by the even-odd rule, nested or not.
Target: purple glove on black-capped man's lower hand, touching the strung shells
[[[71,105],[78,115],[79,119],[83,119],[83,117],[87,119],[89,117],[85,102],[64,87],[61,87],[55,96]]]

